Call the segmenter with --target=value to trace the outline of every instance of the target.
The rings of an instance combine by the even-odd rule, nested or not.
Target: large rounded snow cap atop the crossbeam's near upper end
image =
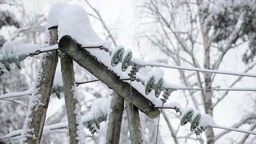
[[[65,35],[71,36],[82,46],[106,46],[106,42],[102,41],[91,28],[89,17],[80,5],[68,5],[60,14],[58,41]]]

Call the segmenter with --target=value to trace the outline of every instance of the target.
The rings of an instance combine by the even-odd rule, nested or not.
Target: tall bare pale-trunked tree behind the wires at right
[[[150,26],[154,29],[151,32],[146,31],[143,36],[151,42],[152,46],[170,57],[172,64],[219,69],[230,49],[235,49],[248,41],[253,43],[254,40],[247,39],[247,37],[251,38],[255,35],[254,26],[249,22],[254,20],[248,17],[255,15],[255,9],[248,6],[250,3],[255,5],[255,2],[245,5],[239,4],[238,1],[231,5],[227,5],[227,1],[223,4],[220,3],[220,1],[210,0],[145,1],[140,5],[142,18],[146,21],[143,26]],[[214,8],[216,8],[215,11]],[[233,17],[229,17],[230,15]],[[248,24],[250,28],[246,28]],[[249,45],[249,47],[251,46]],[[253,49],[253,53],[254,48],[250,49]],[[201,54],[201,51],[204,53]],[[203,62],[200,59],[204,59]],[[255,64],[253,61],[249,61],[247,65],[244,72],[253,69]],[[180,80],[186,87],[197,86],[211,89],[213,84],[215,87],[221,86],[214,81],[215,74],[204,73],[201,75],[198,72],[181,70],[179,70],[179,74]],[[234,79],[229,87],[233,87],[242,79],[243,77]],[[214,108],[228,95],[229,91],[217,94],[211,90],[201,90],[201,98],[196,98],[196,95],[199,94],[193,90],[188,90],[188,93],[196,109],[213,116]],[[203,109],[199,108],[200,103],[203,103]],[[173,134],[172,124],[168,123],[168,125],[172,137],[177,143],[178,137]],[[214,140],[212,128],[206,129],[206,137],[207,144],[214,144],[217,141],[217,139]]]

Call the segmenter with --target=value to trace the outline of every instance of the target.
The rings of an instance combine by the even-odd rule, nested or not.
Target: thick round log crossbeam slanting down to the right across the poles
[[[63,53],[71,57],[81,67],[84,67],[91,72],[91,74],[118,93],[118,95],[125,98],[129,103],[135,105],[139,110],[141,110],[141,112],[145,113],[150,118],[156,118],[159,116],[160,111],[157,108],[154,108],[152,102],[146,99],[133,87],[133,96],[131,101],[130,84],[119,80],[118,75],[99,62],[96,57],[89,53],[89,51],[81,49],[81,46],[76,43],[71,36],[63,36],[58,45]]]

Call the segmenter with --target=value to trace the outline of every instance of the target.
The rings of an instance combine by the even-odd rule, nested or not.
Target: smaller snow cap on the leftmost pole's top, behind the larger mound
[[[57,2],[51,6],[47,18],[47,28],[58,26],[59,15],[66,6],[68,6],[68,4],[64,2]]]

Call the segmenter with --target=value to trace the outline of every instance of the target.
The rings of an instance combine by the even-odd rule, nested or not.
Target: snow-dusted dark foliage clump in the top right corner
[[[238,38],[242,41],[249,40],[249,49],[243,54],[242,60],[246,64],[256,55],[256,3],[255,0],[204,0],[199,7],[202,15],[204,31],[214,30],[216,35],[214,42],[229,39],[236,29],[242,15],[242,26],[231,44],[235,44]],[[235,30],[236,31],[236,30]]]

